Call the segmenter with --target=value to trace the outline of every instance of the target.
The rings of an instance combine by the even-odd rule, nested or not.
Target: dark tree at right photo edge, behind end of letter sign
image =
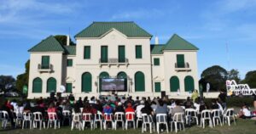
[[[245,79],[241,83],[246,83],[250,88],[256,88],[256,70],[247,72]]]

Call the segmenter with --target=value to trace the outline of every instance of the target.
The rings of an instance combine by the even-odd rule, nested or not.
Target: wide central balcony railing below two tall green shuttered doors
[[[128,59],[99,59],[99,64],[102,67],[102,65],[128,65],[129,60]]]

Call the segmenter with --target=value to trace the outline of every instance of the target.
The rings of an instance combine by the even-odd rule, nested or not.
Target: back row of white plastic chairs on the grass
[[[123,130],[128,129],[128,123],[131,122],[133,125],[133,128],[135,129],[135,113],[134,112],[116,112],[113,114],[103,114],[101,112],[98,112],[97,114],[94,114],[94,120],[92,114],[71,114],[70,111],[63,111],[63,120],[68,119],[69,123],[71,123],[71,130],[73,130],[74,127],[78,128],[79,130],[84,130],[84,126],[86,123],[90,124],[90,129],[96,128],[98,124],[100,124],[101,130],[102,126],[106,130],[109,125],[112,126],[112,129],[117,129],[118,122],[120,122]],[[56,128],[57,124],[60,128],[60,120],[57,118],[56,113],[48,113],[48,126],[47,128],[54,125]],[[222,117],[222,118],[221,118]],[[183,128],[184,130],[184,122],[186,124],[189,124],[191,122],[196,122],[196,125],[199,125],[198,120],[198,113],[195,109],[185,109],[184,113],[176,113],[172,117],[171,123],[171,131],[172,126],[175,126],[175,131],[177,132],[177,126],[179,125],[179,128]],[[228,122],[230,126],[230,120],[235,120],[235,114],[234,109],[227,109],[224,114],[218,109],[213,110],[203,110],[201,112],[201,126],[205,128],[206,121],[209,122],[209,126],[215,126],[216,123],[218,123],[222,126],[222,120],[223,122]],[[6,127],[7,122],[9,120],[9,115],[6,111],[0,111],[0,120],[2,120],[2,127]],[[125,120],[125,121],[124,121]],[[184,121],[185,120],[185,121]],[[149,128],[150,133],[152,131],[155,131],[154,128],[154,121],[153,117],[151,115],[142,114],[141,119],[137,119],[138,121],[143,122],[142,132],[146,131],[147,128]],[[45,122],[43,121],[43,115],[40,112],[35,113],[23,113],[22,117],[18,117],[15,120],[16,124],[21,124],[22,122],[22,129],[24,126],[27,126],[27,123],[29,123],[30,129],[38,128],[41,130],[42,125],[44,125],[45,128]],[[62,122],[63,123],[63,122]],[[157,114],[156,115],[156,131],[160,132],[160,124],[164,124],[166,126],[166,131],[168,132],[168,124],[167,124],[167,114]]]

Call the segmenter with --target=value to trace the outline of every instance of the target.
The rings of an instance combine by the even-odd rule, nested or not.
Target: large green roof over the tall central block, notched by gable
[[[152,37],[152,35],[132,21],[93,22],[83,31],[80,31],[75,37],[99,37],[113,28],[129,37]]]

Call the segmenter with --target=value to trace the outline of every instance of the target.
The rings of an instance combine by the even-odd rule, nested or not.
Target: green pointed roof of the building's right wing
[[[182,37],[174,34],[171,39],[166,43],[165,50],[198,50],[198,47],[195,47],[190,42],[187,42]]]

